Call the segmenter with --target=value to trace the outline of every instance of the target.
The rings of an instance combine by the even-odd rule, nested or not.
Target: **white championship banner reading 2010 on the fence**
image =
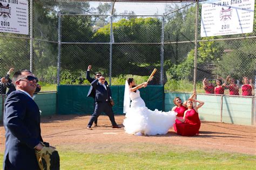
[[[0,0],[0,32],[29,34],[28,0]]]

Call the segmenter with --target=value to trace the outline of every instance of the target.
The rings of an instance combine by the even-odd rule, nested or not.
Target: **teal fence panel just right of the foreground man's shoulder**
[[[56,115],[56,96],[57,93],[39,93],[35,95],[34,101],[42,111],[41,116]]]

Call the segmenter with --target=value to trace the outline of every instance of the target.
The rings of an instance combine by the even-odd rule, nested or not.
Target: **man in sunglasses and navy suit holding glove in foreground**
[[[32,96],[38,79],[29,70],[19,70],[16,86],[5,101],[5,153],[3,169],[59,169],[59,155],[43,143],[40,110]]]

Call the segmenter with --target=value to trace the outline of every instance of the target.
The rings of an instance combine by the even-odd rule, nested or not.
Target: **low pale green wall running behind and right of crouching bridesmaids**
[[[165,111],[174,106],[174,97],[180,97],[182,101],[191,94],[165,93]],[[198,94],[197,100],[205,102],[199,111],[201,121],[221,121],[221,96]],[[222,122],[254,125],[253,98],[223,96]]]

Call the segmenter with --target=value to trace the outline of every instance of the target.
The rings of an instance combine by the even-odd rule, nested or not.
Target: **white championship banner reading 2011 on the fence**
[[[201,10],[201,37],[253,32],[254,0],[205,2]]]

